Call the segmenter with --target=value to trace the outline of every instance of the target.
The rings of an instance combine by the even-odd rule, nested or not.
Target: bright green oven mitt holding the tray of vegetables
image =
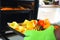
[[[56,40],[54,35],[54,26],[52,25],[42,31],[27,30],[24,34],[26,35],[24,40]]]

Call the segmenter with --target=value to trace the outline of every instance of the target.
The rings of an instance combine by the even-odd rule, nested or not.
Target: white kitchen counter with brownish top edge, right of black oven
[[[60,22],[60,6],[58,5],[43,5],[38,8],[37,19],[48,18],[51,24]]]

